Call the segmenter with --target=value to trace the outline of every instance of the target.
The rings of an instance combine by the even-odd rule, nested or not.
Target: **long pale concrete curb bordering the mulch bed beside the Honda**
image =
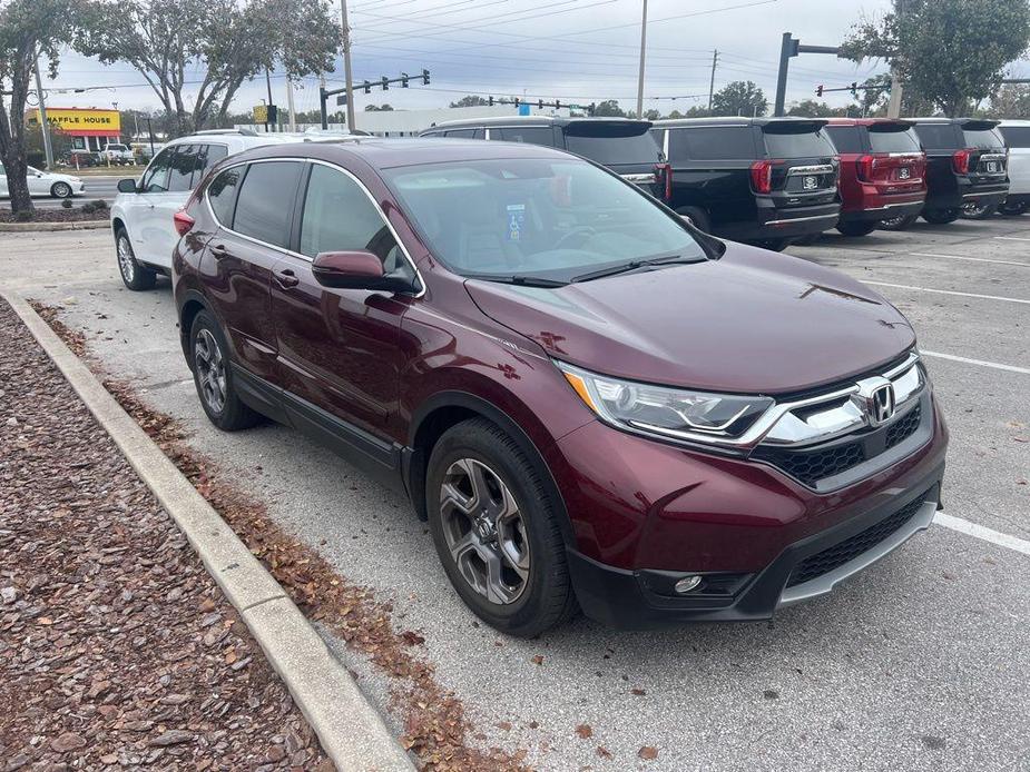
[[[21,317],[189,540],[336,768],[345,772],[414,770],[346,667],[218,513],[24,299],[6,290],[0,290],[0,297]]]

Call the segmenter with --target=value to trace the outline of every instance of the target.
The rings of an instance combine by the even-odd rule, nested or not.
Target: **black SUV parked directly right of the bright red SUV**
[[[1009,192],[1009,152],[997,120],[913,118],[926,151],[926,206],[923,219],[957,220],[963,208],[978,217],[994,212]],[[901,222],[908,225],[914,217]]]

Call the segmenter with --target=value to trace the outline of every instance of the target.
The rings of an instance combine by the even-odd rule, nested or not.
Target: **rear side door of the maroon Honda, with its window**
[[[233,166],[205,196],[218,229],[207,243],[200,276],[234,362],[266,385],[279,385],[272,271],[291,239],[302,161]],[[257,387],[261,387],[261,383]]]

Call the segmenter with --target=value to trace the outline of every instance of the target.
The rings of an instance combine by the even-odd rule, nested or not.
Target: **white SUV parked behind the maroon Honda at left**
[[[238,129],[198,131],[161,148],[139,181],[120,180],[111,206],[111,230],[125,286],[150,289],[157,274],[168,275],[171,251],[179,240],[171,218],[186,205],[208,168],[243,150],[302,139],[298,135]]]

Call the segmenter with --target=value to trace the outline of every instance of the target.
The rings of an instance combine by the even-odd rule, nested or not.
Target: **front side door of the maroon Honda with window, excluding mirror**
[[[339,167],[313,162],[297,215],[295,254],[275,270],[272,310],[287,392],[298,424],[335,434],[374,455],[396,413],[401,318],[409,298],[388,291],[331,289],[312,275],[320,253],[369,250],[384,270],[411,271],[371,194]],[[374,439],[370,438],[372,435]]]

